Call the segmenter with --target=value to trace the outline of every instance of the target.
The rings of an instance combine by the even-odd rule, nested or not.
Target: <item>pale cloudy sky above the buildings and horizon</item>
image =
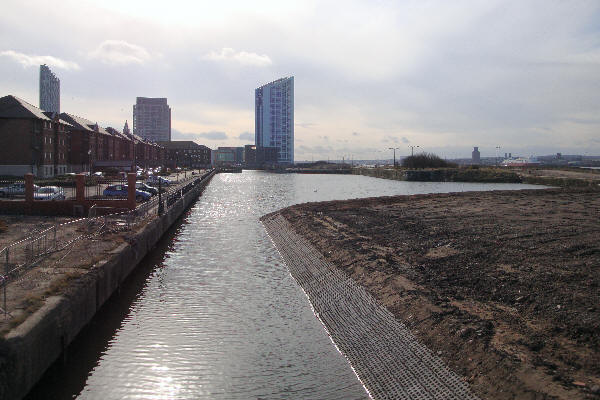
[[[600,155],[600,2],[23,1],[0,14],[0,96],[131,126],[167,97],[173,140],[254,143],[254,89],[294,76],[296,160]]]

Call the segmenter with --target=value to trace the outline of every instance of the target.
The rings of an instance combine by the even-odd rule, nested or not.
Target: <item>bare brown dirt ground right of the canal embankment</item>
[[[600,398],[600,191],[282,210],[483,399]]]

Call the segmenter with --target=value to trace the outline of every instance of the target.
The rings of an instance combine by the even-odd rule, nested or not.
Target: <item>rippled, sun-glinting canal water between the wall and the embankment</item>
[[[29,398],[367,398],[259,217],[308,201],[527,187],[216,175]]]

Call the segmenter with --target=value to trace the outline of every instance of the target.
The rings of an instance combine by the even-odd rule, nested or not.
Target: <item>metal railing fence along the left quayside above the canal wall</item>
[[[134,210],[123,210],[112,214],[97,216],[99,208],[92,206],[87,218],[55,224],[25,239],[0,250],[0,288],[2,288],[1,312],[5,318],[10,316],[7,310],[6,288],[10,282],[21,277],[26,271],[35,268],[51,254],[61,252],[75,242],[91,239],[105,231],[118,232],[134,229],[163,211],[167,211],[190,190],[211,176],[209,171],[198,176],[189,176],[180,180],[180,184],[168,187],[161,196],[155,195],[149,201],[139,204]],[[163,203],[163,207],[160,203]]]

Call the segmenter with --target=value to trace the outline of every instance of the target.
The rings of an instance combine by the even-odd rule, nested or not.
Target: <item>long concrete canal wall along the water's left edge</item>
[[[25,322],[0,340],[0,399],[20,399],[57,360],[163,234],[202,194],[214,172],[178,199],[161,217],[111,252],[68,293],[50,297]]]

